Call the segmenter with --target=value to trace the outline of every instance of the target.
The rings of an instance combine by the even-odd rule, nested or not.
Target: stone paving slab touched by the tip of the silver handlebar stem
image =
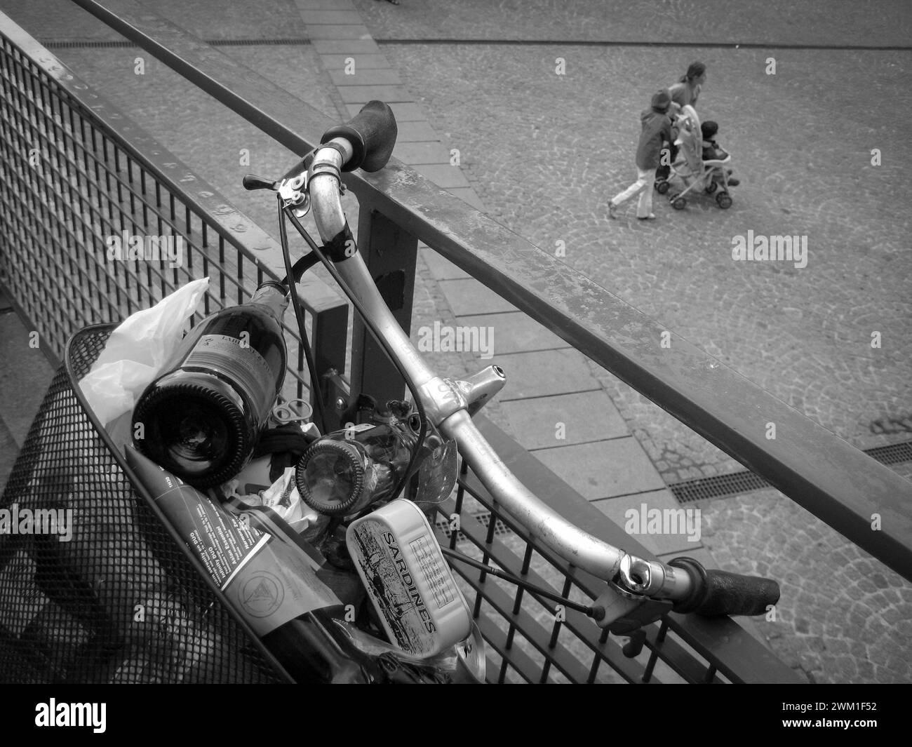
[[[574,348],[566,348],[495,355],[488,362],[502,367],[506,373],[507,383],[498,399],[507,402],[510,399],[599,391],[598,381],[583,364],[583,358],[583,354]]]

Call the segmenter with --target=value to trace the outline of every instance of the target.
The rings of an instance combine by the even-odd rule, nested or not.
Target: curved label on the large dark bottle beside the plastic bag
[[[275,374],[265,358],[244,340],[229,335],[203,335],[181,368],[209,368],[236,381],[255,407],[264,412],[275,399]]]

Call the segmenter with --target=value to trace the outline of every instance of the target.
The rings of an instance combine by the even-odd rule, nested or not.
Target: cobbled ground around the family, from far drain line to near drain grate
[[[904,116],[890,116],[886,103],[902,99],[907,53],[790,53],[773,78],[763,74],[765,53],[753,51],[688,50],[676,64],[632,48],[385,50],[461,149],[497,220],[545,249],[563,241],[568,264],[855,445],[908,438],[870,427],[907,413],[912,394],[902,176],[910,152]],[[567,60],[564,78],[554,75],[557,54]],[[710,66],[701,111],[720,121],[743,179],[734,205],[721,211],[699,196],[678,213],[660,199],[656,223],[633,221],[632,206],[609,222],[608,197],[634,177],[637,118],[623,112],[641,109],[655,81],[695,57]],[[839,105],[819,92],[833,85],[834,70],[844,74],[846,57],[855,58],[850,69],[876,70],[876,81],[864,100]],[[606,106],[596,91],[609,80],[646,82],[610,87]],[[878,143],[885,161],[873,167]],[[748,231],[806,235],[807,266],[733,262],[732,237]],[[871,348],[873,331],[883,348]],[[667,482],[741,469],[634,390],[597,375]]]

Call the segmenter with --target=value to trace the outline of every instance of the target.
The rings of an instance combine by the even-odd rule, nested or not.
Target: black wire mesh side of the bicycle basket
[[[0,680],[287,681],[84,407],[78,380],[113,328],[70,338],[0,502]]]

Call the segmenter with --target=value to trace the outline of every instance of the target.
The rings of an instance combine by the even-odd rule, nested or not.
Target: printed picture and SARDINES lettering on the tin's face
[[[353,559],[360,565],[368,596],[382,612],[380,620],[390,638],[399,648],[418,656],[434,650],[437,627],[395,534],[384,524],[372,520],[355,526],[354,533],[358,552],[352,554]],[[411,544],[420,543],[421,539],[423,536]],[[430,568],[433,564],[430,564],[428,554],[420,551],[419,556],[422,571],[427,574],[430,570],[430,577],[436,576]],[[438,586],[431,584],[437,606],[442,607],[447,602],[438,596],[441,593]]]

